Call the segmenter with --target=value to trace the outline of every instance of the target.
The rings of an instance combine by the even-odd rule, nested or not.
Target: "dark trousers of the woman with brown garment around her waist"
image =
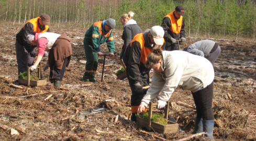
[[[51,83],[54,83],[54,81],[56,81],[56,80],[62,81],[62,78],[65,73],[66,64],[69,62],[69,60],[70,60],[70,56],[64,58],[64,63],[62,65],[61,69],[56,68],[55,65],[50,66],[49,80]]]

